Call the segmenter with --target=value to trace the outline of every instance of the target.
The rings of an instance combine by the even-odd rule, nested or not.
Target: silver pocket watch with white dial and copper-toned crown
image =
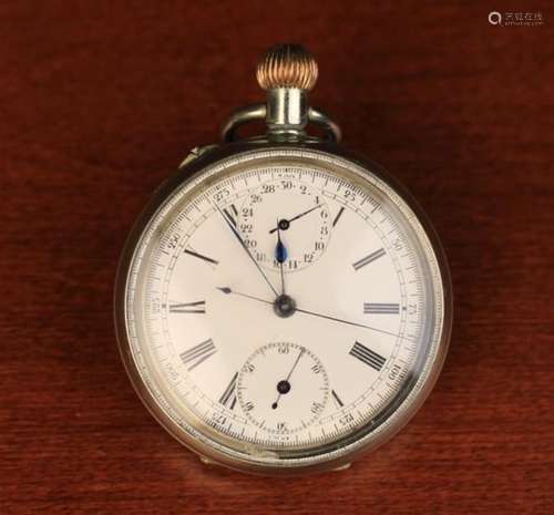
[[[430,393],[451,330],[449,271],[412,197],[308,105],[314,58],[277,45],[256,76],[266,102],[193,150],[135,223],[116,279],[119,346],[146,408],[205,463],[340,470]],[[250,122],[265,134],[242,137]]]

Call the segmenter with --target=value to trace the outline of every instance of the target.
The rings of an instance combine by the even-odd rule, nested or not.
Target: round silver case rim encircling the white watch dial
[[[132,356],[130,341],[127,339],[126,322],[125,322],[125,293],[126,293],[126,282],[129,271],[133,261],[134,250],[138,244],[144,229],[152,219],[152,217],[157,212],[158,207],[164,203],[166,197],[182,184],[192,181],[197,174],[209,165],[215,164],[218,161],[225,159],[227,157],[236,156],[240,153],[265,151],[265,150],[312,150],[321,153],[329,154],[330,156],[337,156],[353,164],[361,166],[362,168],[370,171],[371,174],[376,175],[378,178],[383,181],[388,186],[390,186],[394,192],[406,202],[408,207],[412,209],[416,217],[420,222],[425,235],[429,238],[431,248],[435,255],[439,271],[441,275],[441,281],[443,287],[443,310],[444,318],[442,325],[442,333],[440,341],[438,343],[437,357],[429,369],[427,380],[420,390],[417,392],[416,396],[411,399],[411,404],[402,408],[401,416],[398,416],[393,423],[389,423],[387,428],[380,431],[375,439],[369,440],[366,444],[358,446],[357,449],[346,451],[343,454],[334,456],[331,459],[325,459],[328,453],[321,454],[318,461],[312,461],[305,464],[290,465],[284,463],[281,465],[269,465],[266,463],[259,463],[254,461],[248,461],[246,459],[237,459],[224,454],[214,447],[205,444],[193,437],[191,434],[183,431],[183,429],[176,424],[165,412],[158,406],[155,398],[151,394],[144,382],[142,381],[140,371],[136,368],[135,361]],[[422,406],[425,399],[431,393],[437,379],[441,372],[444,359],[448,352],[448,347],[450,342],[451,331],[453,321],[453,296],[452,296],[452,282],[450,277],[450,270],[448,266],[447,256],[439,240],[439,237],[431,225],[428,216],[420,207],[419,203],[414,197],[407,190],[407,188],[394,179],[381,165],[375,163],[373,161],[347,151],[335,143],[307,141],[305,143],[273,143],[267,141],[242,141],[237,143],[226,143],[219,147],[211,150],[199,157],[187,163],[185,166],[181,167],[177,173],[168,177],[164,183],[162,183],[158,188],[152,194],[145,207],[135,219],[132,229],[126,238],[115,278],[115,290],[114,290],[114,323],[115,323],[115,336],[117,340],[117,347],[120,354],[125,367],[126,373],[131,380],[131,383],[150,413],[158,422],[162,428],[165,429],[175,440],[177,440],[185,447],[195,452],[199,455],[204,463],[218,464],[225,467],[234,468],[240,472],[247,472],[253,474],[261,475],[299,475],[306,473],[315,473],[328,470],[338,470],[348,466],[352,461],[360,459],[370,451],[376,450],[390,439],[392,439],[407,423],[413,418],[413,415]],[[402,401],[403,402],[403,401]],[[369,431],[371,432],[371,431]],[[368,432],[368,433],[369,433]],[[362,435],[365,437],[368,433]],[[356,434],[356,433],[355,433]],[[314,460],[314,459],[311,459]]]

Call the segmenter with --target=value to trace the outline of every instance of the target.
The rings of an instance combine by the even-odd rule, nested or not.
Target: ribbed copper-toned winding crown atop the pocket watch
[[[261,58],[256,79],[263,90],[294,87],[311,90],[318,75],[317,62],[300,44],[277,44]]]

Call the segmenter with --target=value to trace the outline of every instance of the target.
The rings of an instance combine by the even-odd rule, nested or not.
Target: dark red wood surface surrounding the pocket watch
[[[1,2],[0,513],[554,513],[547,7],[513,2],[544,24],[510,28],[476,1]],[[455,292],[410,425],[347,472],[295,480],[202,465],[140,403],[112,328],[133,219],[263,99],[254,66],[281,41],[318,58],[311,99],[345,144],[427,208]]]

